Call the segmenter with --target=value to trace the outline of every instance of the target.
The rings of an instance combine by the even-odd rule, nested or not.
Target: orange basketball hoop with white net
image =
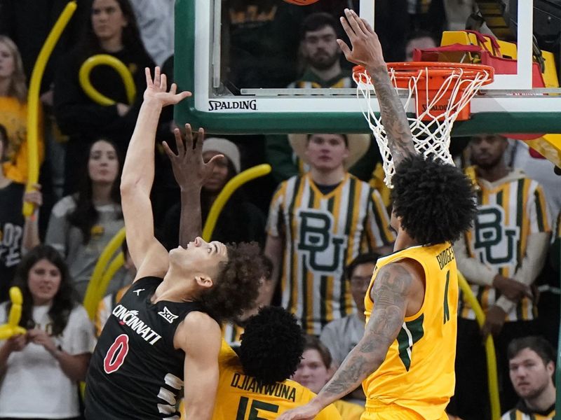
[[[405,110],[414,97],[417,118],[407,117],[407,120],[415,150],[425,158],[435,156],[454,165],[448,150],[454,121],[469,119],[469,102],[480,87],[493,81],[494,69],[482,64],[447,62],[397,62],[387,65],[396,89],[409,90]],[[391,178],[396,169],[384,125],[370,104],[370,94],[374,89],[372,80],[363,66],[354,67],[353,79],[357,84],[357,98],[365,99],[363,114],[384,159],[384,182],[392,188]]]

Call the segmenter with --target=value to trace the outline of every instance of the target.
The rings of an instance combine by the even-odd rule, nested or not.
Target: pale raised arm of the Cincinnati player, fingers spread
[[[121,176],[121,206],[127,243],[136,267],[142,267],[151,246],[157,242],[154,238],[150,190],[154,183],[154,142],[158,119],[164,106],[177,104],[191,95],[190,92],[176,93],[175,83],[168,92],[167,80],[159,67],[154,71],[154,80],[150,70],[146,69],[146,83],[144,102],[130,139]]]

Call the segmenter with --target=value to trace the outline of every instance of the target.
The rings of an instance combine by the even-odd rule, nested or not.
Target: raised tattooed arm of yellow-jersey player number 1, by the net
[[[365,67],[372,78],[380,104],[381,120],[388,135],[391,157],[394,165],[397,166],[403,158],[417,152],[413,147],[407,115],[391,84],[380,41],[370,24],[366,20],[360,19],[354,10],[345,9],[345,17],[341,18],[341,24],[351,40],[352,50],[341,39],[338,39],[337,43],[346,59]]]

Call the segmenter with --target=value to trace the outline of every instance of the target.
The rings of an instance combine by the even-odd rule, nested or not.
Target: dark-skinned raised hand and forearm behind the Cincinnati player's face
[[[185,125],[185,144],[179,129],[174,130],[177,155],[163,142],[165,153],[171,161],[173,176],[181,190],[180,245],[187,247],[189,241],[202,235],[201,227],[201,188],[212,176],[215,166],[224,155],[213,156],[207,163],[203,161],[203,141],[205,132],[198,129],[196,139],[191,125]]]

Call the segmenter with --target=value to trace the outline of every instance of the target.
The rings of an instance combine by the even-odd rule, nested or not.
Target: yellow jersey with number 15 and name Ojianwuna
[[[273,420],[316,396],[305,386],[290,379],[273,385],[259,384],[254,377],[243,374],[238,356],[224,341],[219,364],[220,379],[213,420]],[[341,420],[341,416],[333,405],[329,405],[316,419]]]

